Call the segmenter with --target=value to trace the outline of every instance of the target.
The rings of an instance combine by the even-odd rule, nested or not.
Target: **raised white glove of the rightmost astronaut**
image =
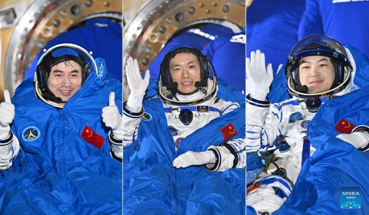
[[[272,64],[269,63],[265,69],[265,55],[260,50],[251,52],[251,62],[246,58],[246,84],[250,87],[251,98],[265,101],[269,93],[270,84],[273,81]]]

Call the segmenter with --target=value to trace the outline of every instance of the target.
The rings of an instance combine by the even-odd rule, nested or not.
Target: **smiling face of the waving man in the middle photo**
[[[201,79],[200,62],[192,53],[179,53],[169,62],[169,73],[173,82],[178,83],[180,93],[193,93],[197,90],[195,83]]]

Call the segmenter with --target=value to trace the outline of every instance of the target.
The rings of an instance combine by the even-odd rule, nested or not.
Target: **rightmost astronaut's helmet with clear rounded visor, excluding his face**
[[[334,67],[334,81],[328,91],[308,93],[307,86],[301,85],[299,77],[300,59],[307,56],[329,57]],[[291,50],[285,65],[287,87],[293,97],[334,95],[344,90],[351,81],[352,66],[348,55],[337,40],[326,35],[311,35],[301,39]]]

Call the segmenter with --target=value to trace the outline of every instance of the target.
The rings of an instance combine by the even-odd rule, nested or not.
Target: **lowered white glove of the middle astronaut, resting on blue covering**
[[[188,151],[176,159],[173,160],[173,166],[177,169],[185,168],[193,165],[204,165],[208,163],[215,163],[215,155],[214,152],[205,151],[205,152],[192,152]]]

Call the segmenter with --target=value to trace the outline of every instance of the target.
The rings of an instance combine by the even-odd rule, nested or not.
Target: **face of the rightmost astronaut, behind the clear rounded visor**
[[[325,56],[308,56],[300,59],[299,78],[308,93],[323,93],[330,90],[334,81],[334,66]]]

